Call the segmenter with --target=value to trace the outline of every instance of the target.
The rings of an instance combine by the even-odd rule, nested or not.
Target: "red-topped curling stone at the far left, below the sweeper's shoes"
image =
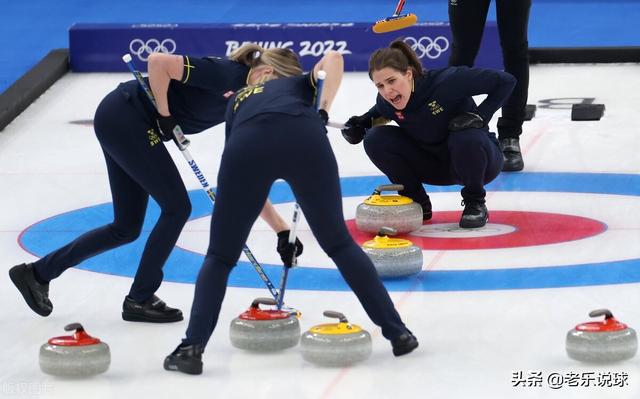
[[[40,347],[40,369],[51,375],[88,377],[104,373],[111,363],[109,345],[90,336],[80,323],[65,326],[73,335],[51,338]]]

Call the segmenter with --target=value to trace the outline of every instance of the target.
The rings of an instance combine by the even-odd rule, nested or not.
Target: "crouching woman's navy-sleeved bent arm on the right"
[[[495,69],[467,67],[456,69],[457,71],[451,77],[451,87],[445,87],[445,89],[455,92],[460,97],[486,94],[487,98],[478,105],[478,114],[485,123],[488,123],[511,94],[516,85],[516,78]]]

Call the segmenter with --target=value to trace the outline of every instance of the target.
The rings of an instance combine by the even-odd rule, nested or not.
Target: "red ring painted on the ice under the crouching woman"
[[[455,223],[460,221],[460,211],[434,212],[433,218],[424,225]],[[363,233],[356,228],[355,219],[346,221],[353,239],[362,244],[374,234]],[[427,250],[455,249],[498,249],[528,247],[534,245],[558,244],[581,240],[601,234],[607,225],[582,216],[545,212],[489,211],[489,224],[512,226],[514,231],[489,237],[419,237],[411,234],[398,238],[411,240],[415,245]],[[471,233],[473,234],[473,233]]]

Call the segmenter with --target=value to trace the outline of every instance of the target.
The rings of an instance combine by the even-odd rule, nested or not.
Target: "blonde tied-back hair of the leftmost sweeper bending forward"
[[[286,48],[265,49],[262,46],[250,43],[235,50],[229,56],[229,59],[243,63],[249,68],[261,65],[270,66],[273,68],[274,75],[271,79],[302,74],[302,66],[298,56]],[[249,71],[249,75],[251,75],[251,71]]]

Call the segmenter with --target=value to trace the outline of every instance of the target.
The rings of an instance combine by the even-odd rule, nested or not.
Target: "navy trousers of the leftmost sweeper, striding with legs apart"
[[[129,296],[143,302],[160,286],[162,267],[191,213],[191,202],[141,101],[136,93],[117,88],[102,100],[94,118],[109,175],[113,222],[35,262],[40,279],[53,280],[85,259],[137,239],[151,195],[161,214],[145,244]]]

